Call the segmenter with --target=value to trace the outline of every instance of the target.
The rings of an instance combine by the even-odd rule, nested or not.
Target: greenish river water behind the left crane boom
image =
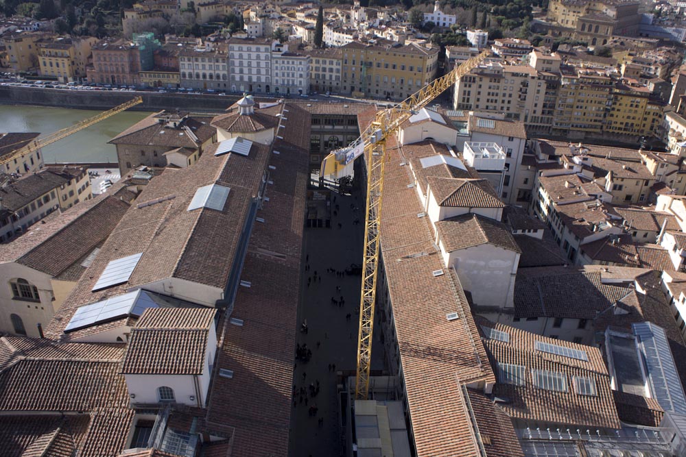
[[[43,135],[69,127],[99,111],[0,105],[0,132],[38,132]],[[45,163],[117,162],[115,145],[107,142],[149,112],[123,111],[43,148]]]

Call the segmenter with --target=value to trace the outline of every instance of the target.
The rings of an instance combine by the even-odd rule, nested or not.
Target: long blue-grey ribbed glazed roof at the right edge
[[[663,328],[650,322],[632,324],[646,360],[652,395],[665,411],[686,414],[686,397]]]

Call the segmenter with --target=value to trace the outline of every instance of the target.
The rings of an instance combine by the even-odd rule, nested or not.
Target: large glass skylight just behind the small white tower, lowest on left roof
[[[80,306],[64,328],[64,332],[73,332],[122,317],[141,316],[147,308],[158,308],[158,305],[150,298],[150,295],[140,289],[110,297],[90,305]]]

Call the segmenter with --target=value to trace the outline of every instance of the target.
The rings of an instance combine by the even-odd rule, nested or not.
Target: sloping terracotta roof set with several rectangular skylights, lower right
[[[484,338],[493,369],[498,364],[521,365],[524,367],[524,385],[498,382],[493,395],[505,397],[509,402],[499,406],[516,419],[564,423],[584,427],[620,428],[617,409],[602,354],[597,347],[569,343],[507,325],[480,321],[481,325],[507,332],[508,342]],[[547,343],[584,351],[588,361],[548,354],[536,350],[535,343]],[[534,386],[532,370],[562,373],[566,380],[566,391],[552,391]],[[598,395],[580,395],[573,385],[573,376],[591,378]]]

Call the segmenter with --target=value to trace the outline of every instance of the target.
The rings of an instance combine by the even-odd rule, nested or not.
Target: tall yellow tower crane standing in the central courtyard
[[[381,227],[381,197],[383,196],[383,164],[386,161],[386,140],[396,134],[400,126],[436,99],[444,90],[455,84],[483,62],[489,51],[467,60],[453,71],[435,79],[414,95],[392,108],[377,111],[375,119],[351,145],[332,151],[322,162],[321,177],[338,179],[352,172],[353,161],[366,156],[367,164],[367,208],[364,225],[364,254],[362,269],[362,291],[359,304],[359,334],[357,340],[357,375],[355,377],[355,398],[367,399],[369,391],[369,370],[372,356],[372,332],[374,330],[374,308],[379,267],[379,229]]]

